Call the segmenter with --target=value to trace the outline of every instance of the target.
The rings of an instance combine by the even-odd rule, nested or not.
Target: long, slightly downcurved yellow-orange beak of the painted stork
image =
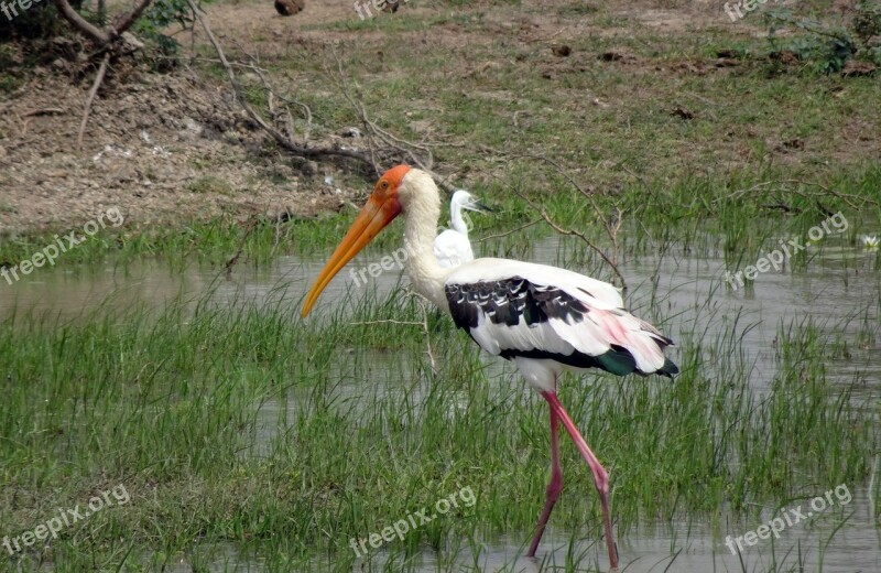
[[[373,240],[373,237],[379,235],[387,225],[389,225],[401,213],[401,204],[398,203],[398,197],[388,195],[384,199],[380,198],[377,193],[370,195],[367,204],[361,208],[361,212],[355,218],[355,223],[349,227],[349,231],[342,237],[334,255],[327,260],[324,270],[315,279],[315,284],[309,289],[306,295],[306,302],[303,304],[303,312],[301,315],[305,317],[318,296],[324,291],[325,286],[336,274],[349,262],[365,246]]]

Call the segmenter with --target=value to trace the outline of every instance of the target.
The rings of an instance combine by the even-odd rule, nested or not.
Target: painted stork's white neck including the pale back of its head
[[[404,215],[404,244],[407,250],[407,274],[413,288],[438,309],[448,309],[444,284],[452,269],[444,269],[434,256],[437,220],[440,218],[440,195],[431,175],[410,171],[399,191]]]

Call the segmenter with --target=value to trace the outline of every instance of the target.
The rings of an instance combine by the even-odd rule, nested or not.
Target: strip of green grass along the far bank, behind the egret
[[[622,251],[644,255],[671,245],[687,251],[708,246],[705,244],[711,238],[711,247],[722,249],[728,270],[736,272],[754,262],[780,238],[806,238],[812,227],[839,210],[847,219],[841,236],[851,246],[857,245],[861,235],[877,235],[881,227],[881,205],[874,196],[874,190],[881,187],[878,165],[829,175],[827,183],[819,184],[823,187],[790,180],[786,173],[771,169],[759,176],[739,173],[730,179],[701,175],[674,183],[635,181],[612,195],[595,195],[598,210],[553,171],[546,174],[546,183],[555,193],[537,192],[530,175],[532,169],[518,165],[504,179],[474,186],[497,209],[491,216],[472,217],[476,240],[533,221],[540,218],[541,208],[563,228],[577,230],[611,252],[613,246],[600,215],[609,218],[620,214],[623,230],[618,239]],[[193,185],[207,191],[203,188],[205,181],[198,180]],[[785,205],[785,209],[779,208],[780,205]],[[178,268],[192,261],[220,266],[241,247],[241,261],[264,266],[280,255],[314,256],[331,250],[354,217],[354,209],[286,221],[258,217],[252,227],[250,220],[229,213],[207,221],[148,228],[108,227],[64,253],[55,264],[75,267],[112,261],[126,266],[143,258],[159,258]],[[400,223],[395,223],[380,235],[374,241],[377,248],[398,248],[399,228]],[[15,264],[53,242],[54,235],[68,230],[0,237],[0,261]],[[542,221],[514,235],[490,238],[481,244],[481,251],[486,256],[522,257],[534,239],[548,230]],[[804,270],[806,261],[805,253],[794,257],[792,270]]]

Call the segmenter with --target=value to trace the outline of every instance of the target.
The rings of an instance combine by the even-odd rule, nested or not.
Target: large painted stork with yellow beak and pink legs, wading
[[[601,368],[619,376],[635,372],[672,377],[678,368],[664,356],[664,348],[672,340],[627,312],[618,289],[572,271],[504,259],[477,259],[460,267],[442,268],[432,245],[440,216],[437,186],[431,175],[409,165],[387,171],[377,182],[309,290],[304,317],[334,275],[402,213],[410,250],[407,272],[414,289],[449,312],[456,326],[481,348],[514,360],[526,381],[548,403],[551,480],[527,556],[535,555],[563,488],[557,443],[557,424],[562,423],[594,475],[609,562],[616,569],[609,474],[557,399],[557,376],[564,370]]]

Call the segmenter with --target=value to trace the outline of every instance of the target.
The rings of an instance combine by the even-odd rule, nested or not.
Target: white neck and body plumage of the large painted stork
[[[509,259],[476,259],[459,267],[443,268],[432,247],[440,216],[434,181],[426,173],[413,170],[404,179],[399,197],[405,217],[404,238],[411,249],[407,271],[415,290],[453,314],[454,320],[457,312],[472,313],[477,318],[475,324],[466,326],[457,321],[457,325],[488,353],[514,359],[536,390],[555,391],[561,371],[584,369],[568,364],[579,361],[569,357],[601,357],[613,348],[623,348],[632,356],[635,368],[631,371],[652,374],[664,367],[663,348],[670,340],[623,310],[621,293],[611,284],[557,267]],[[505,283],[519,281],[527,284],[532,294],[548,293],[548,304],[577,305],[584,311],[576,316],[569,310],[565,316],[545,316],[540,322],[515,314],[508,316],[505,323],[493,322],[491,306],[498,310],[498,305],[520,302],[515,300],[518,295],[520,299],[530,296],[523,289],[519,293],[503,292]],[[493,286],[498,290],[492,293],[494,301],[481,302],[477,295],[466,296],[470,302],[463,301],[461,305],[470,305],[470,309],[450,307],[450,291],[482,289],[489,292]],[[539,312],[546,314],[546,311]],[[561,359],[548,359],[552,355]]]

